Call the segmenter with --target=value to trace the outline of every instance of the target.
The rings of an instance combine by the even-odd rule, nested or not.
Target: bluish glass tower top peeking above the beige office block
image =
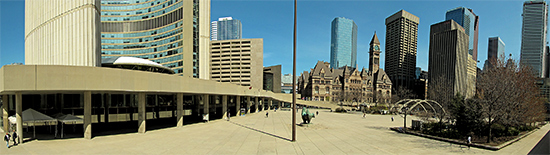
[[[218,18],[218,21],[212,23],[212,40],[231,40],[241,39],[242,25],[241,21],[232,17]]]

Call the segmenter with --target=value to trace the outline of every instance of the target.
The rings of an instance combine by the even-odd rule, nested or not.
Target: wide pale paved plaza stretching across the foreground
[[[550,129],[546,125],[504,149],[490,151],[396,133],[389,127],[403,125],[403,118],[397,115],[392,122],[392,115],[363,118],[362,114],[320,110],[312,124],[297,126],[297,141],[290,142],[290,114],[270,110],[268,118],[262,111],[232,117],[231,121],[215,120],[144,134],[33,140],[10,149],[2,146],[0,154],[527,154]]]

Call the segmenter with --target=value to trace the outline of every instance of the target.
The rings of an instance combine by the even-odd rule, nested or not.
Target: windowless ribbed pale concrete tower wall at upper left
[[[99,8],[99,0],[26,0],[25,64],[101,66]]]

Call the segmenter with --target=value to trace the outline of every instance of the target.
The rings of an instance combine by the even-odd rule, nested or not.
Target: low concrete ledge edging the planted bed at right
[[[465,146],[468,146],[468,143],[465,142],[465,141],[460,141],[460,140],[456,140],[456,139],[449,139],[449,138],[443,138],[443,137],[437,137],[437,136],[432,136],[432,135],[427,135],[427,134],[421,134],[421,133],[416,133],[416,132],[408,132],[408,131],[403,131],[401,127],[393,127],[393,128],[390,128],[391,130],[393,131],[396,131],[396,132],[401,132],[401,133],[406,133],[406,134],[410,134],[410,135],[415,135],[415,136],[420,136],[420,137],[424,137],[424,138],[429,138],[429,139],[434,139],[434,140],[439,140],[439,141],[444,141],[444,142],[449,142],[449,143],[454,143],[454,144],[459,144],[459,145],[465,145]],[[487,150],[492,150],[492,151],[498,151],[514,142],[517,142],[519,141],[520,139],[532,134],[533,132],[536,132],[538,131],[540,128],[537,128],[537,129],[534,129],[532,131],[529,131],[523,135],[519,135],[518,137],[512,139],[512,140],[509,140],[507,142],[504,142],[498,146],[490,146],[490,145],[483,145],[483,144],[476,144],[476,143],[472,143],[470,144],[470,146],[472,147],[477,147],[477,148],[481,148],[481,149],[487,149]]]

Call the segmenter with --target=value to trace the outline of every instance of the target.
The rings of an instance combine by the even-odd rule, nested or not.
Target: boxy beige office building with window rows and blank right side
[[[262,89],[263,39],[212,41],[211,80]]]

